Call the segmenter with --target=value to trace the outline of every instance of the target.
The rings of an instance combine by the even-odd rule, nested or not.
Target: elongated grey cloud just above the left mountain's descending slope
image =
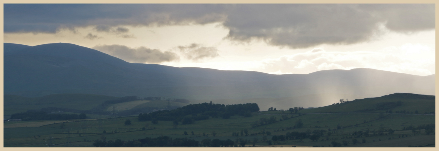
[[[162,52],[146,47],[130,48],[123,45],[98,45],[93,49],[131,63],[161,63],[179,60],[179,57],[173,52]]]

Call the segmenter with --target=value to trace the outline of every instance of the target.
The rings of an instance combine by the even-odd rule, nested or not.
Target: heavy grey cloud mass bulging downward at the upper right
[[[430,4],[249,4],[231,14],[224,22],[229,39],[290,48],[365,42],[380,36],[381,26],[397,32],[435,29]]]

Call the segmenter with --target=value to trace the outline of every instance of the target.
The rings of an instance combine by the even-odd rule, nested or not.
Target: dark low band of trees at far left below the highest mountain
[[[22,113],[15,113],[11,115],[11,119],[29,120],[69,120],[69,119],[86,119],[87,115],[81,113],[77,114],[47,114],[45,111],[27,111]]]

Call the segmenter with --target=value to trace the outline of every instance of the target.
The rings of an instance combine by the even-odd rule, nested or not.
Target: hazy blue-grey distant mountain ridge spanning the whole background
[[[245,100],[308,95],[314,96],[312,98],[318,103],[291,100],[291,104],[324,106],[337,101],[334,98],[343,96],[435,94],[435,75],[418,76],[367,68],[287,75],[177,68],[128,63],[70,43],[33,47],[4,43],[4,49],[4,93],[25,97],[91,93],[116,97],[136,95],[190,100]]]

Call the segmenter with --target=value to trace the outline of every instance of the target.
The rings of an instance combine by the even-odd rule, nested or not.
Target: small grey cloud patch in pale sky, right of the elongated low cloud
[[[218,49],[215,47],[204,47],[197,43],[192,43],[188,46],[179,46],[177,47],[181,52],[184,53],[184,56],[193,61],[198,61],[204,58],[215,58],[218,57]]]

